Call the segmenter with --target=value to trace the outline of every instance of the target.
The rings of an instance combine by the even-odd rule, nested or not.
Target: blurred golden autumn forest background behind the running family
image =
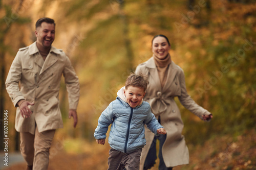
[[[8,166],[25,169],[14,129],[15,108],[5,90],[19,48],[36,40],[35,22],[56,22],[53,46],[69,56],[80,81],[78,126],[68,119],[65,83],[49,169],[106,169],[109,144],[93,137],[101,112],[139,63],[152,56],[154,35],[166,35],[187,91],[214,119],[206,123],[177,101],[190,163],[176,169],[256,169],[256,1],[254,0],[2,0],[0,1],[0,155],[8,111]],[[3,159],[3,160],[2,160]],[[158,163],[158,162],[157,162]],[[152,168],[157,169],[157,166]]]

